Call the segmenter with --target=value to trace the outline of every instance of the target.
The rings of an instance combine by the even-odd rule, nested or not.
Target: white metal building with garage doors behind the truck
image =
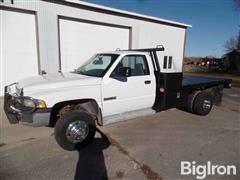
[[[9,83],[71,71],[94,53],[117,48],[161,44],[161,62],[175,59],[162,70],[181,72],[187,27],[78,0],[0,0],[0,95]]]

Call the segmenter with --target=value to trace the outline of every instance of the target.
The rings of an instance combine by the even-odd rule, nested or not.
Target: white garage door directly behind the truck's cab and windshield
[[[72,71],[97,52],[128,49],[129,28],[60,19],[61,69]]]

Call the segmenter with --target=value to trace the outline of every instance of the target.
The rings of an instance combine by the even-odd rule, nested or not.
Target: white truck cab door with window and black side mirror
[[[128,70],[128,76],[121,73]],[[102,84],[103,115],[152,107],[155,77],[145,55],[124,56]]]

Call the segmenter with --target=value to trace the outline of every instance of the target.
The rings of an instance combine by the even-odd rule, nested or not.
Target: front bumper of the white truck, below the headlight
[[[31,113],[25,113],[14,107],[16,97],[6,93],[4,96],[4,111],[10,124],[22,122],[30,126],[48,126],[51,108],[36,109]]]

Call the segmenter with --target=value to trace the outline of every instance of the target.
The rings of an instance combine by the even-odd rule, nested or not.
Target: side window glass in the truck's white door
[[[119,62],[112,75],[117,75],[120,68],[130,68],[131,76],[149,75],[149,68],[144,55],[127,55]]]

